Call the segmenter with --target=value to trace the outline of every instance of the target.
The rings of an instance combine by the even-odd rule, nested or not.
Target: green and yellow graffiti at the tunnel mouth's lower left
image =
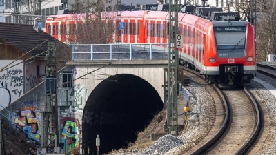
[[[66,143],[66,152],[70,152],[73,149],[79,148],[79,137],[81,125],[80,122],[72,117],[63,117],[61,121],[62,125],[62,143]],[[65,139],[66,136],[66,139]],[[65,149],[65,148],[64,148]]]

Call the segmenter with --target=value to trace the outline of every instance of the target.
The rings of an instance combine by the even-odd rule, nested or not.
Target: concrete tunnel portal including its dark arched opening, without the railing
[[[75,112],[83,116],[83,141],[94,142],[99,134],[101,147],[106,151],[126,145],[126,139],[134,141],[136,132],[144,130],[148,121],[163,109],[164,68],[168,68],[168,60],[109,63],[67,63],[74,66],[74,84],[87,91],[86,103],[78,105],[79,111]]]

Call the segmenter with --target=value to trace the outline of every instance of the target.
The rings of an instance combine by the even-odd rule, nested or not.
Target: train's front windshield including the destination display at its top
[[[214,27],[217,50],[244,49],[246,26]]]

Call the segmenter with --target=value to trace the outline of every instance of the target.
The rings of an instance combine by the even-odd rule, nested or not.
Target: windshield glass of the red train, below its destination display
[[[215,32],[217,50],[244,49],[246,32]]]

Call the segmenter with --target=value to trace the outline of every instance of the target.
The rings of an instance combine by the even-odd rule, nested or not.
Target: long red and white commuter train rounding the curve
[[[225,16],[213,12],[212,15],[217,21],[179,12],[179,34],[184,36],[183,48],[179,48],[179,64],[198,70],[210,83],[250,82],[256,74],[253,26],[247,21],[237,21],[237,14]],[[46,21],[46,32],[66,42],[66,30],[74,28],[75,21],[70,14],[56,17],[54,21]],[[124,11],[121,21],[125,23],[118,38],[122,43],[168,42],[168,12]]]

